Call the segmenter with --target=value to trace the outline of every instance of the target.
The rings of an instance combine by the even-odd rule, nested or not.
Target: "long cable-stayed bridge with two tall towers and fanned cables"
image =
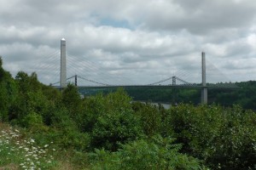
[[[175,71],[172,76],[165,78],[154,77],[150,75],[152,80],[158,78],[158,81],[140,83],[142,77],[134,81],[132,77],[137,77],[137,73],[124,72],[122,69],[115,71],[106,71],[106,64],[101,67],[102,63],[93,63],[83,59],[84,57],[75,56],[66,53],[66,41],[61,40],[61,52],[55,51],[46,57],[47,61],[44,64],[37,65],[37,72],[44,71],[44,75],[49,75],[48,78],[51,86],[56,88],[65,88],[67,83],[73,83],[78,88],[197,88],[201,89],[201,101],[207,103],[208,88],[237,88],[234,83],[227,81],[228,78],[219,71],[214,65],[206,63],[206,56],[201,54],[201,66],[199,73],[195,75],[189,71]],[[200,61],[200,60],[199,60]],[[61,64],[61,65],[60,65]],[[112,63],[113,64],[113,63]],[[209,65],[209,66],[208,66]],[[125,67],[125,66],[124,66]],[[122,74],[119,74],[122,72]],[[39,75],[39,74],[38,74]],[[212,79],[215,81],[218,77],[224,77],[219,82],[209,83]],[[189,79],[189,80],[188,80]],[[207,82],[209,81],[209,82]]]

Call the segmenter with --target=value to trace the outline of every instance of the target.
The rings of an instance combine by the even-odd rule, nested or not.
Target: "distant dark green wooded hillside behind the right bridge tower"
[[[256,81],[236,82],[236,86],[238,88],[208,89],[208,103],[223,106],[236,104],[244,109],[256,111]],[[201,89],[127,88],[125,90],[134,100],[170,104],[201,104]]]

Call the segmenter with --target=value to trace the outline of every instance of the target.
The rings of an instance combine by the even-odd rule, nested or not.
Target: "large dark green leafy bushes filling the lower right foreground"
[[[248,169],[255,166],[255,120],[253,111],[239,106],[178,105],[166,117],[183,153],[204,160],[212,168]]]

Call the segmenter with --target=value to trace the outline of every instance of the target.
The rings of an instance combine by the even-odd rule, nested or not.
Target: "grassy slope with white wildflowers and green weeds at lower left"
[[[54,142],[38,145],[28,134],[0,122],[0,170],[88,169],[86,154],[57,149]]]

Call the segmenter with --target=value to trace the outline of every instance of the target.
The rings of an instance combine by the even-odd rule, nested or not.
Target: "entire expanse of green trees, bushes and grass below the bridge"
[[[256,82],[212,89],[209,105],[196,90],[81,97],[73,84],[58,90],[2,65],[0,168],[256,169]],[[178,105],[134,101],[154,93]]]

